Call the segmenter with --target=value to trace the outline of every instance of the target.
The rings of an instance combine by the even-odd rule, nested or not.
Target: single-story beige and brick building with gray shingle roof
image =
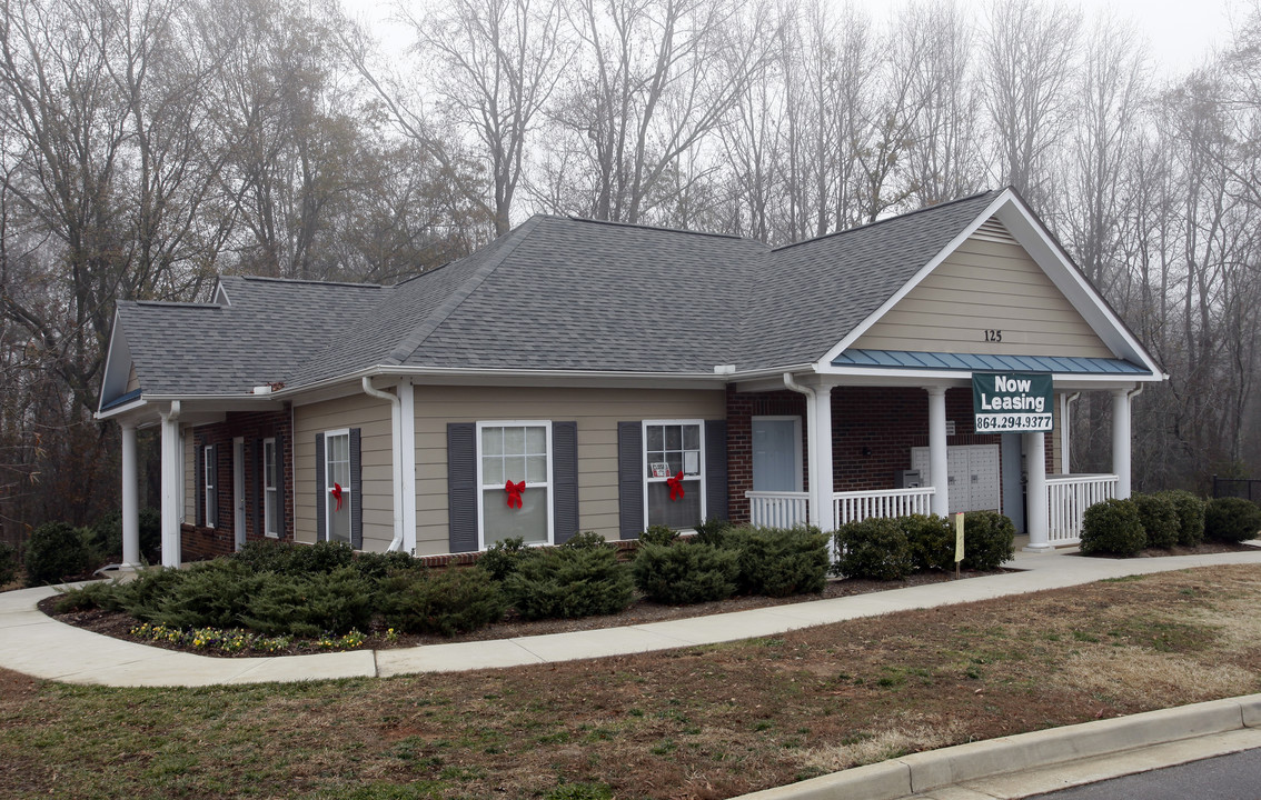
[[[1164,377],[1004,189],[776,248],[537,215],[393,286],[223,276],[119,304],[98,416],[127,563],[146,426],[164,564],[972,509],[1050,548],[1129,495],[1131,398]],[[995,399],[1021,380],[1043,394]],[[1069,471],[1087,389],[1112,392],[1108,475]]]

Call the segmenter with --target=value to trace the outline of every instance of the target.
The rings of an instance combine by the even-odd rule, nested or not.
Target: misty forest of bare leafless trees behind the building
[[[117,299],[390,282],[536,212],[786,243],[1005,184],[1170,374],[1136,488],[1261,475],[1261,6],[1168,74],[1038,0],[417,0],[402,57],[325,0],[0,1],[5,538],[116,505]]]

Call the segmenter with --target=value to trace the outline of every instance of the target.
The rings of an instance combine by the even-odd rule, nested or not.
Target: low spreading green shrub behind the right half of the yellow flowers
[[[250,577],[257,583],[248,587],[238,620],[261,634],[311,637],[363,629],[371,621],[373,587],[354,567],[305,576]],[[158,621],[163,621],[160,616]]]

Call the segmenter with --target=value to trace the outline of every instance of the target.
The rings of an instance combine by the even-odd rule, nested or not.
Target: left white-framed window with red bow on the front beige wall
[[[550,544],[551,422],[478,422],[477,450],[480,548],[512,537]]]

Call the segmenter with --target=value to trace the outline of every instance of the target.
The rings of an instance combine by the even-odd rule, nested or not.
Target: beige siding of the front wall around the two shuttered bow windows
[[[618,528],[618,422],[721,420],[721,391],[416,387],[416,553],[446,553],[446,423],[578,422],[579,525],[605,539]]]

